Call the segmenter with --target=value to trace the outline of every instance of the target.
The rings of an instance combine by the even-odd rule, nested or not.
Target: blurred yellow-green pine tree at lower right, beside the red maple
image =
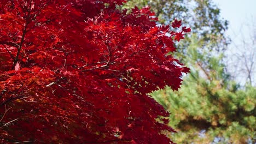
[[[248,143],[255,141],[256,88],[241,88],[225,72],[222,56],[207,57],[196,40],[188,47],[191,73],[181,89],[156,91],[152,95],[170,115],[178,131],[169,136],[177,143]]]

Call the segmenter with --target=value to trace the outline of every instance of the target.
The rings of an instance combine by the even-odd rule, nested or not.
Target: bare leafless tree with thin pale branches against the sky
[[[245,23],[241,26],[241,31],[237,35],[236,40],[233,40],[231,46],[235,50],[230,50],[228,56],[224,59],[228,63],[227,70],[232,76],[232,79],[239,81],[242,85],[256,86],[256,25],[255,18],[250,17],[252,22]],[[243,30],[243,31],[242,31]],[[248,30],[248,33],[244,31]]]

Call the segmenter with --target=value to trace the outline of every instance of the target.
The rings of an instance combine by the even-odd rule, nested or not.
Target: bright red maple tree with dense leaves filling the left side
[[[123,2],[1,1],[0,142],[172,143],[147,93],[181,85],[183,31]]]

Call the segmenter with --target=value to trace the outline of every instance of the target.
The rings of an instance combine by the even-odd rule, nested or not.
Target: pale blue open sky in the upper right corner
[[[226,56],[229,60],[227,64],[232,65],[230,72],[237,73],[236,80],[244,84],[246,75],[242,75],[241,69],[245,69],[245,59],[237,56],[246,55],[248,62],[252,53],[255,53],[253,85],[256,85],[256,46],[252,43],[252,35],[256,43],[256,0],[213,0],[213,2],[220,9],[220,16],[229,21],[226,34],[231,38],[232,43],[226,51]],[[245,43],[243,40],[246,40]]]

